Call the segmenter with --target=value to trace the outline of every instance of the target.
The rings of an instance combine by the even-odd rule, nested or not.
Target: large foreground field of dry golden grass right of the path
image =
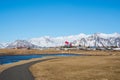
[[[120,56],[63,57],[30,70],[35,80],[120,80]]]

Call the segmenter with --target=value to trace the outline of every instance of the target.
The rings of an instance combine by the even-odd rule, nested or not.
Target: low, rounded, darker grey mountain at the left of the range
[[[26,41],[26,40],[16,40],[10,43],[6,48],[37,48],[38,46]]]

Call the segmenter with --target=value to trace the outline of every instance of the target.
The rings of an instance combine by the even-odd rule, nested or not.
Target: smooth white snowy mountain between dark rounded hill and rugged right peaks
[[[49,37],[44,36],[40,38],[32,38],[29,40],[32,44],[41,47],[56,47],[56,46],[63,46],[65,41],[73,42],[74,40],[85,38],[88,35],[80,34],[80,35],[72,35],[72,36],[64,36],[64,37]]]

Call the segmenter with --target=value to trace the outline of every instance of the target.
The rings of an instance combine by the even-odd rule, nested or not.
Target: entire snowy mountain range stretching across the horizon
[[[64,46],[65,41],[72,43],[74,46],[98,46],[98,47],[108,47],[115,46],[120,47],[120,34],[105,34],[105,33],[95,33],[95,34],[79,34],[71,36],[62,37],[50,37],[44,36],[40,38],[32,38],[29,40],[16,40],[14,42],[9,42],[7,44],[0,43],[0,48],[15,48],[15,47],[29,47],[29,48],[39,48],[39,47],[58,47]]]

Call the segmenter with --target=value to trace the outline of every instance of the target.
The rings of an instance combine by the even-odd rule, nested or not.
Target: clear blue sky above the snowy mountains
[[[120,33],[119,0],[0,0],[0,42]]]

